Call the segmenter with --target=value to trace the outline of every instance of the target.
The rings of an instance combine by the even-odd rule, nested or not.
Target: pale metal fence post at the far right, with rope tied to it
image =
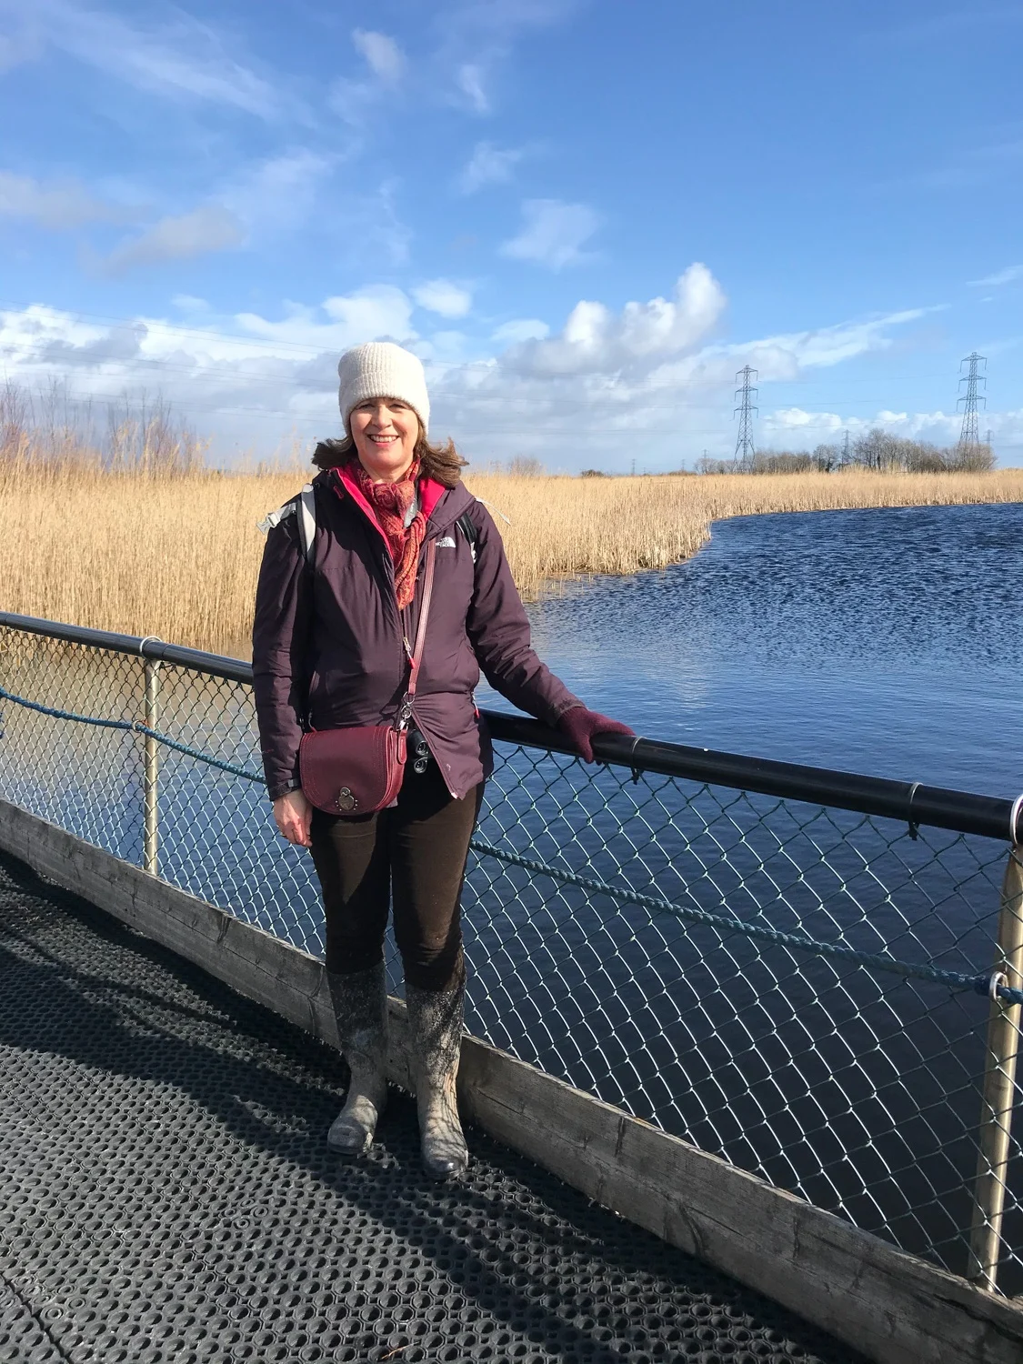
[[[1004,973],[1007,985],[1023,985],[1023,844],[1009,850],[1005,868],[994,971]],[[1022,1013],[1023,1005],[992,997],[967,1267],[967,1278],[992,1292],[998,1275]]]

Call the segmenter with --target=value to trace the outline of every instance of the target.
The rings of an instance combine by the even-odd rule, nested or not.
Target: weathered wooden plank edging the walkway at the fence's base
[[[0,801],[0,848],[337,1045],[319,960]],[[408,1087],[391,1001],[391,1079]],[[715,1155],[466,1038],[465,1113],[595,1202],[878,1364],[1019,1364],[1023,1305],[906,1255]]]

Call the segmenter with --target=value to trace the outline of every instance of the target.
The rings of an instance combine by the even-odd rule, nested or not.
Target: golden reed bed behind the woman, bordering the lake
[[[248,652],[256,521],[303,473],[177,476],[0,461],[0,610]],[[711,522],[758,512],[1023,501],[1023,469],[622,479],[475,475],[524,596],[559,577],[663,569]]]

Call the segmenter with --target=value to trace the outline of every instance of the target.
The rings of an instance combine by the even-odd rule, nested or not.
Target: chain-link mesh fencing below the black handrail
[[[0,612],[0,798],[316,955],[248,664]],[[1016,802],[484,712],[472,1033],[1023,1290]],[[1008,859],[1007,859],[1008,847]],[[400,986],[393,945],[389,966]]]

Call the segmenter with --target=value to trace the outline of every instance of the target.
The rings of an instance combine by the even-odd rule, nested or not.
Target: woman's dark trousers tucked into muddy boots
[[[312,812],[312,861],[323,891],[327,971],[366,971],[383,958],[393,898],[405,981],[421,990],[461,983],[460,899],[483,783],[451,798],[431,761],[405,769],[398,803],[375,814]]]

